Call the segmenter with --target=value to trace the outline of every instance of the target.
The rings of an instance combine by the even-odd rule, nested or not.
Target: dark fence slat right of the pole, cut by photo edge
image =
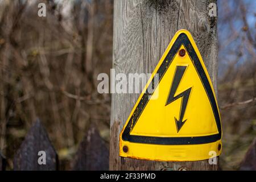
[[[256,138],[246,152],[245,158],[242,160],[240,170],[256,171]]]

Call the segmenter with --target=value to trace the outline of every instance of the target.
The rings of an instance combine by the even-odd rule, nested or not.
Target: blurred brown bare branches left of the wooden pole
[[[109,142],[110,95],[98,94],[97,75],[112,67],[113,1],[0,2],[1,151],[13,168],[39,117],[69,169],[91,122]]]

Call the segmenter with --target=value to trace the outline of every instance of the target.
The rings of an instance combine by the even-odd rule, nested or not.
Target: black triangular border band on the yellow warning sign
[[[130,135],[131,130],[136,125],[138,118],[140,117],[142,111],[147,105],[151,94],[147,91],[143,94],[139,104],[137,105],[136,109],[134,110],[133,115],[129,119],[125,130],[123,130],[122,140],[127,142],[133,143],[145,143],[145,144],[164,144],[164,145],[181,145],[181,144],[204,144],[204,143],[212,143],[216,142],[217,140],[221,139],[221,122],[220,122],[220,114],[218,112],[218,107],[216,100],[214,98],[213,90],[210,86],[208,81],[207,75],[204,72],[204,68],[201,65],[199,57],[196,54],[195,49],[193,48],[188,36],[184,33],[181,33],[177,39],[175,40],[173,46],[171,47],[170,51],[168,52],[167,56],[164,58],[163,63],[160,65],[158,71],[155,76],[159,76],[159,82],[162,80],[164,73],[167,71],[169,66],[171,65],[174,56],[176,55],[177,51],[179,51],[181,45],[185,47],[188,52],[188,55],[193,60],[193,65],[196,68],[197,74],[199,75],[201,82],[203,83],[204,89],[207,92],[210,104],[212,106],[214,118],[217,124],[218,134],[207,135],[207,136],[200,136],[200,137],[148,137],[148,136],[139,136],[139,135]],[[154,85],[154,80],[152,79],[151,84],[156,88],[157,85]],[[158,83],[159,83],[158,82]],[[157,83],[157,84],[158,84]],[[149,84],[149,85],[151,85]]]

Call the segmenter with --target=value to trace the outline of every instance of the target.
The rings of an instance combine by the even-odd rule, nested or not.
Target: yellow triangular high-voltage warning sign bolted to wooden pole
[[[150,94],[147,89],[152,85],[155,88]],[[220,113],[207,69],[191,34],[180,30],[123,127],[120,155],[204,160],[221,154],[221,137]]]

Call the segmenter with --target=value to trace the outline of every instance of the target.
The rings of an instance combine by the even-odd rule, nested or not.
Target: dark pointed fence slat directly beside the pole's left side
[[[77,171],[109,169],[109,149],[95,125],[90,126],[80,143],[72,166]]]

